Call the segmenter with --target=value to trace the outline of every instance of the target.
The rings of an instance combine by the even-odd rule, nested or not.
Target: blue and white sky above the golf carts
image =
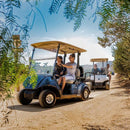
[[[21,10],[15,10],[17,14],[21,16],[21,23],[24,22],[27,14],[31,11],[30,6],[24,1],[25,0],[23,0]],[[87,9],[87,17],[82,21],[81,27],[74,32],[74,23],[68,22],[64,17],[64,5],[57,14],[49,14],[48,10],[51,2],[52,0],[40,0],[37,5],[37,8],[44,16],[47,31],[45,30],[40,13],[35,9],[36,17],[33,28],[30,31],[29,48],[31,43],[57,40],[86,49],[87,52],[82,53],[80,59],[82,65],[91,64],[91,58],[109,58],[109,60],[113,60],[111,48],[102,48],[98,44],[97,37],[102,36],[102,32],[99,30],[98,26],[100,18],[97,18],[96,22],[93,23],[93,19],[90,18],[92,15],[92,10],[90,8]],[[32,14],[32,19],[30,21],[33,21],[33,16],[34,14]]]

